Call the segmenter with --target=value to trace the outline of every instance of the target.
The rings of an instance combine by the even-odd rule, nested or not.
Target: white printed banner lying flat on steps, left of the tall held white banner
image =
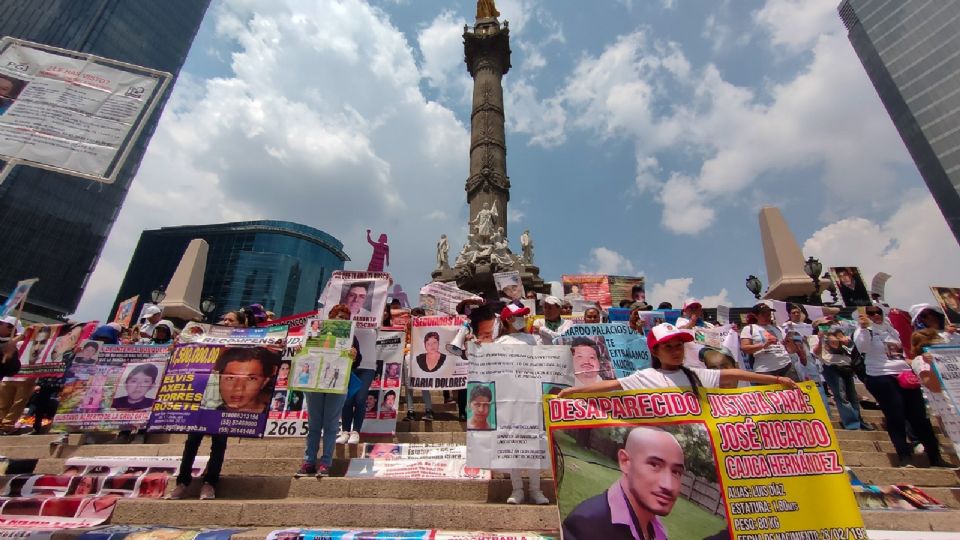
[[[460,444],[365,443],[350,460],[347,477],[409,480],[489,480],[490,471],[467,467]]]

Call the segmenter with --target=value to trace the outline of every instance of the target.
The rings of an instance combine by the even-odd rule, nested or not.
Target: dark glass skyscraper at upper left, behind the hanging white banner
[[[167,71],[174,76],[209,0],[0,0],[0,36]],[[114,184],[19,166],[0,185],[0,297],[38,277],[27,311],[73,313],[140,166],[161,97]]]

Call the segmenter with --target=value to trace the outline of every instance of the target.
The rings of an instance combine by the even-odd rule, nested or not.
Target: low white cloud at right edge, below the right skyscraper
[[[884,221],[848,218],[821,228],[803,252],[824,267],[859,266],[868,285],[877,272],[892,275],[886,299],[903,309],[933,302],[931,285],[955,286],[960,267],[960,246],[933,198],[920,190],[904,194]]]

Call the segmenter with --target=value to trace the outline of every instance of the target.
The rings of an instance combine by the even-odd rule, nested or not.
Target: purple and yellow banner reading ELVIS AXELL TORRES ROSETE
[[[147,430],[262,437],[286,339],[286,326],[188,324]]]

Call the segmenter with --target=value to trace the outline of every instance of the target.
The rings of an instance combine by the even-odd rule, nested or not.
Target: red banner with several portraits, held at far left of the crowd
[[[63,375],[64,355],[76,349],[76,357],[93,354],[91,349],[78,348],[97,329],[96,321],[79,324],[31,326],[23,334],[20,345],[20,372],[17,377],[37,378]],[[76,358],[75,357],[75,358]]]

